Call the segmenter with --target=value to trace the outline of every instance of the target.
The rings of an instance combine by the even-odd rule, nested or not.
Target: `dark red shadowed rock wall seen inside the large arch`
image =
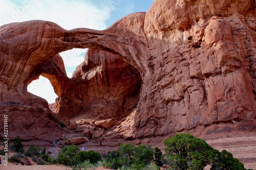
[[[129,115],[139,102],[139,70],[110,52],[89,49],[70,80],[76,86],[74,92],[57,101],[62,117],[119,119]]]

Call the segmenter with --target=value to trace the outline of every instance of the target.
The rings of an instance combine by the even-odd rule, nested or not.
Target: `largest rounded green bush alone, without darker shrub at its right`
[[[175,169],[203,169],[216,152],[204,140],[187,133],[166,138],[164,145],[167,163]]]

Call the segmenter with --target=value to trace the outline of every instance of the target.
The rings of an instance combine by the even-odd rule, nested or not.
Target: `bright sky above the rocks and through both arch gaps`
[[[49,20],[66,30],[90,28],[104,30],[115,21],[134,12],[147,12],[154,0],[0,0],[0,26],[27,20]],[[60,53],[69,77],[84,61],[86,49]],[[28,86],[28,91],[54,103],[54,93],[48,79],[40,76]]]

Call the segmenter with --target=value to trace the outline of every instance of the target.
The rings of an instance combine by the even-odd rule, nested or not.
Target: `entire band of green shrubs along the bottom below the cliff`
[[[117,151],[100,155],[95,151],[80,151],[76,145],[63,147],[57,158],[46,153],[46,148],[29,145],[24,151],[23,144],[17,136],[11,148],[17,152],[10,157],[12,162],[24,165],[31,157],[38,165],[65,164],[72,170],[96,169],[103,166],[119,170],[157,170],[164,165],[165,169],[204,169],[210,165],[211,170],[245,170],[243,163],[226,150],[222,152],[212,148],[203,139],[183,133],[164,140],[164,154],[159,148],[151,145],[135,146],[131,143],[121,144]]]

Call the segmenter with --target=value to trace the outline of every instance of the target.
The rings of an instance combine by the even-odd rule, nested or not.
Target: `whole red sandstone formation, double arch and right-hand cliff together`
[[[209,127],[222,123],[251,130],[255,14],[249,0],[156,0],[147,13],[126,16],[104,31],[67,31],[48,21],[2,26],[0,102],[49,109],[26,90],[43,75],[58,95],[56,112],[124,118],[115,129],[127,139],[213,132]],[[58,53],[74,47],[91,49],[69,79]]]

